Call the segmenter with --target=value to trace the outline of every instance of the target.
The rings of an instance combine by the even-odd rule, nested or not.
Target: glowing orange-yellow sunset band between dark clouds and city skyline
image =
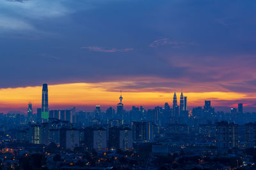
[[[76,106],[91,110],[96,104],[100,104],[104,108],[113,106],[119,102],[119,89],[109,91],[114,83],[68,83],[60,85],[49,85],[49,107],[51,109],[69,108]],[[128,91],[128,92],[127,92]],[[180,92],[177,92],[177,96]],[[163,106],[168,102],[172,104],[173,92],[129,92],[122,89],[123,103],[125,108],[131,106],[144,106],[145,108],[154,108],[155,106]],[[212,105],[221,106],[219,101],[227,101],[230,106],[236,104],[233,101],[239,99],[250,99],[254,96],[247,97],[246,94],[235,92],[188,92],[184,93],[188,97],[188,106],[203,106],[204,100],[212,100]],[[228,96],[228,98],[227,98]],[[0,90],[0,107],[3,108],[24,108],[29,102],[33,104],[33,108],[40,108],[42,100],[42,87],[19,87]]]

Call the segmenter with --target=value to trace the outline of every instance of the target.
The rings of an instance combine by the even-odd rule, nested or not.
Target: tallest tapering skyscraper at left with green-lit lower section
[[[48,87],[47,87],[47,84],[43,84],[41,118],[42,118],[42,122],[47,122],[48,119],[49,119]]]

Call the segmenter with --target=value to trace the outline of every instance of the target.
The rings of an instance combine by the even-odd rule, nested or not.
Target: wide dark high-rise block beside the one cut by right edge
[[[218,148],[236,148],[238,145],[237,124],[216,123],[216,141]]]

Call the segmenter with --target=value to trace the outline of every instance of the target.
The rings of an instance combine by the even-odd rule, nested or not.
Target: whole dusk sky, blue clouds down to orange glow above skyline
[[[256,107],[256,1],[0,0],[0,112]]]

